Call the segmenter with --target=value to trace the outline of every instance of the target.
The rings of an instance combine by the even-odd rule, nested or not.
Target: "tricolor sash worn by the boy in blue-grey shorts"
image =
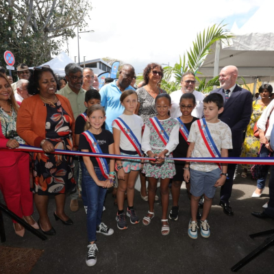
[[[199,127],[199,131],[201,132],[201,137],[203,138],[203,141],[206,144],[206,147],[208,148],[208,151],[210,152],[210,155],[212,155],[212,158],[220,158],[221,153],[217,149],[214,140],[210,134],[210,130],[208,129],[208,125],[206,124],[206,119],[200,119],[197,120],[197,124]],[[221,165],[217,164],[219,168],[221,169]]]

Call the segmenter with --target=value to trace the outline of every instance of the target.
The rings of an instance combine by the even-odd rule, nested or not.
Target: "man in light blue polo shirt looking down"
[[[124,64],[119,72],[119,78],[114,82],[105,85],[99,91],[101,95],[101,105],[105,108],[105,129],[112,132],[112,122],[123,114],[125,108],[121,105],[120,97],[124,90],[133,89],[129,86],[134,77],[134,67],[131,64]]]

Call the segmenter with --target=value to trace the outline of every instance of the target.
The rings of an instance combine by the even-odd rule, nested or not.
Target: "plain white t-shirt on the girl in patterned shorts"
[[[144,125],[144,123],[142,122],[142,118],[136,114],[133,114],[133,115],[122,114],[119,117],[123,121],[125,121],[125,123],[128,125],[130,129],[132,129],[132,132],[134,133],[134,135],[136,136],[136,138],[141,144],[142,143],[142,126]],[[115,121],[113,121],[112,127],[121,130]],[[131,142],[129,142],[129,140],[127,139],[125,134],[123,134],[123,132],[121,132],[121,136],[120,136],[120,147],[123,150],[136,151],[136,149],[134,149],[134,146],[131,144]]]

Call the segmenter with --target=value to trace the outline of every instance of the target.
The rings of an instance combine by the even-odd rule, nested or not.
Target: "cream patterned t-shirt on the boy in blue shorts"
[[[221,153],[221,149],[232,149],[232,132],[229,126],[219,120],[218,123],[206,123],[210,131],[210,135],[214,140],[217,149]],[[212,158],[205,142],[201,136],[198,123],[195,121],[190,127],[188,142],[195,142],[191,158]],[[215,163],[206,162],[190,162],[190,168],[195,171],[213,171],[218,168]]]

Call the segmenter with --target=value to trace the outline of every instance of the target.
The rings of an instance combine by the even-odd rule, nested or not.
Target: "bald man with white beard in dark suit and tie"
[[[221,88],[212,90],[211,93],[219,93],[223,96],[224,110],[219,114],[219,119],[226,123],[232,131],[233,149],[229,149],[229,157],[240,157],[242,148],[242,131],[249,124],[252,113],[252,94],[249,90],[240,88],[236,84],[238,69],[236,66],[225,66],[220,74],[219,81]],[[221,187],[220,206],[227,215],[233,215],[229,205],[229,198],[232,194],[233,177],[236,164],[228,164],[227,179]]]

